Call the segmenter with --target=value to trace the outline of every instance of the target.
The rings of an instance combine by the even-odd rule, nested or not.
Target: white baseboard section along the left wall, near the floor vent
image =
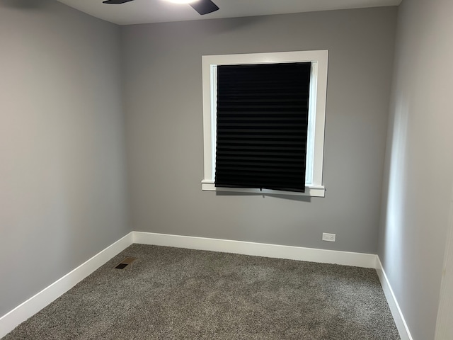
[[[47,288],[40,291],[40,293],[30,297],[30,299],[23,302],[18,307],[8,312],[3,317],[0,317],[0,338],[8,334],[14,328],[21,324],[29,317],[36,314],[42,308],[49,305],[60,295],[66,293],[69,289],[74,287],[81,280],[96,271],[97,268],[113,258],[113,256],[120,253],[132,244],[132,232],[122,237],[114,244],[108,246],[103,251],[93,256],[88,261],[82,263],[73,271],[67,273],[59,280],[52,283]]]

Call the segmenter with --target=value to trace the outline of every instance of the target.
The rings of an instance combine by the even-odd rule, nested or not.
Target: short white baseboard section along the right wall
[[[406,320],[404,319],[403,313],[398,305],[398,301],[396,300],[394,291],[391,289],[389,279],[387,278],[384,268],[382,267],[379,256],[377,256],[376,264],[377,276],[379,276],[379,280],[381,281],[382,290],[384,290],[386,300],[389,303],[390,311],[394,317],[399,336],[401,337],[401,340],[413,340],[411,332],[408,329],[408,325],[406,324]]]

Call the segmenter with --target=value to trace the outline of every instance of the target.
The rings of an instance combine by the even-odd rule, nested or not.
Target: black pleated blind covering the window
[[[305,191],[310,62],[217,67],[215,186]]]

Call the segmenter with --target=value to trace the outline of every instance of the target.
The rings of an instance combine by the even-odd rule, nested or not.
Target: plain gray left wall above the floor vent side
[[[0,46],[1,317],[130,228],[119,28],[1,0]]]

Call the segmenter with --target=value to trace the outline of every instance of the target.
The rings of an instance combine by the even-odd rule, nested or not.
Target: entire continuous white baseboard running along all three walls
[[[151,232],[130,232],[122,239],[108,246],[103,251],[82,263],[70,273],[49,285],[40,293],[30,297],[18,307],[0,317],[0,338],[12,331],[18,324],[24,322],[33,314],[39,312],[50,302],[66,293],[86,276],[130,246],[132,243],[152,244],[158,246],[175,246],[178,248],[221,251],[226,253],[244,254],[253,256],[273,257],[277,259],[292,259],[319,263],[337,263],[344,266],[358,266],[375,268],[382,288],[389,302],[391,313],[394,316],[396,327],[401,340],[412,340],[403,314],[396,302],[389,280],[386,278],[382,263],[375,254],[353,253],[348,251],[333,251],[325,249],[303,248],[299,246],[283,246],[279,244],[263,244],[255,242],[234,241],[229,239],[210,239],[205,237],[188,237],[171,234],[156,234]]]

